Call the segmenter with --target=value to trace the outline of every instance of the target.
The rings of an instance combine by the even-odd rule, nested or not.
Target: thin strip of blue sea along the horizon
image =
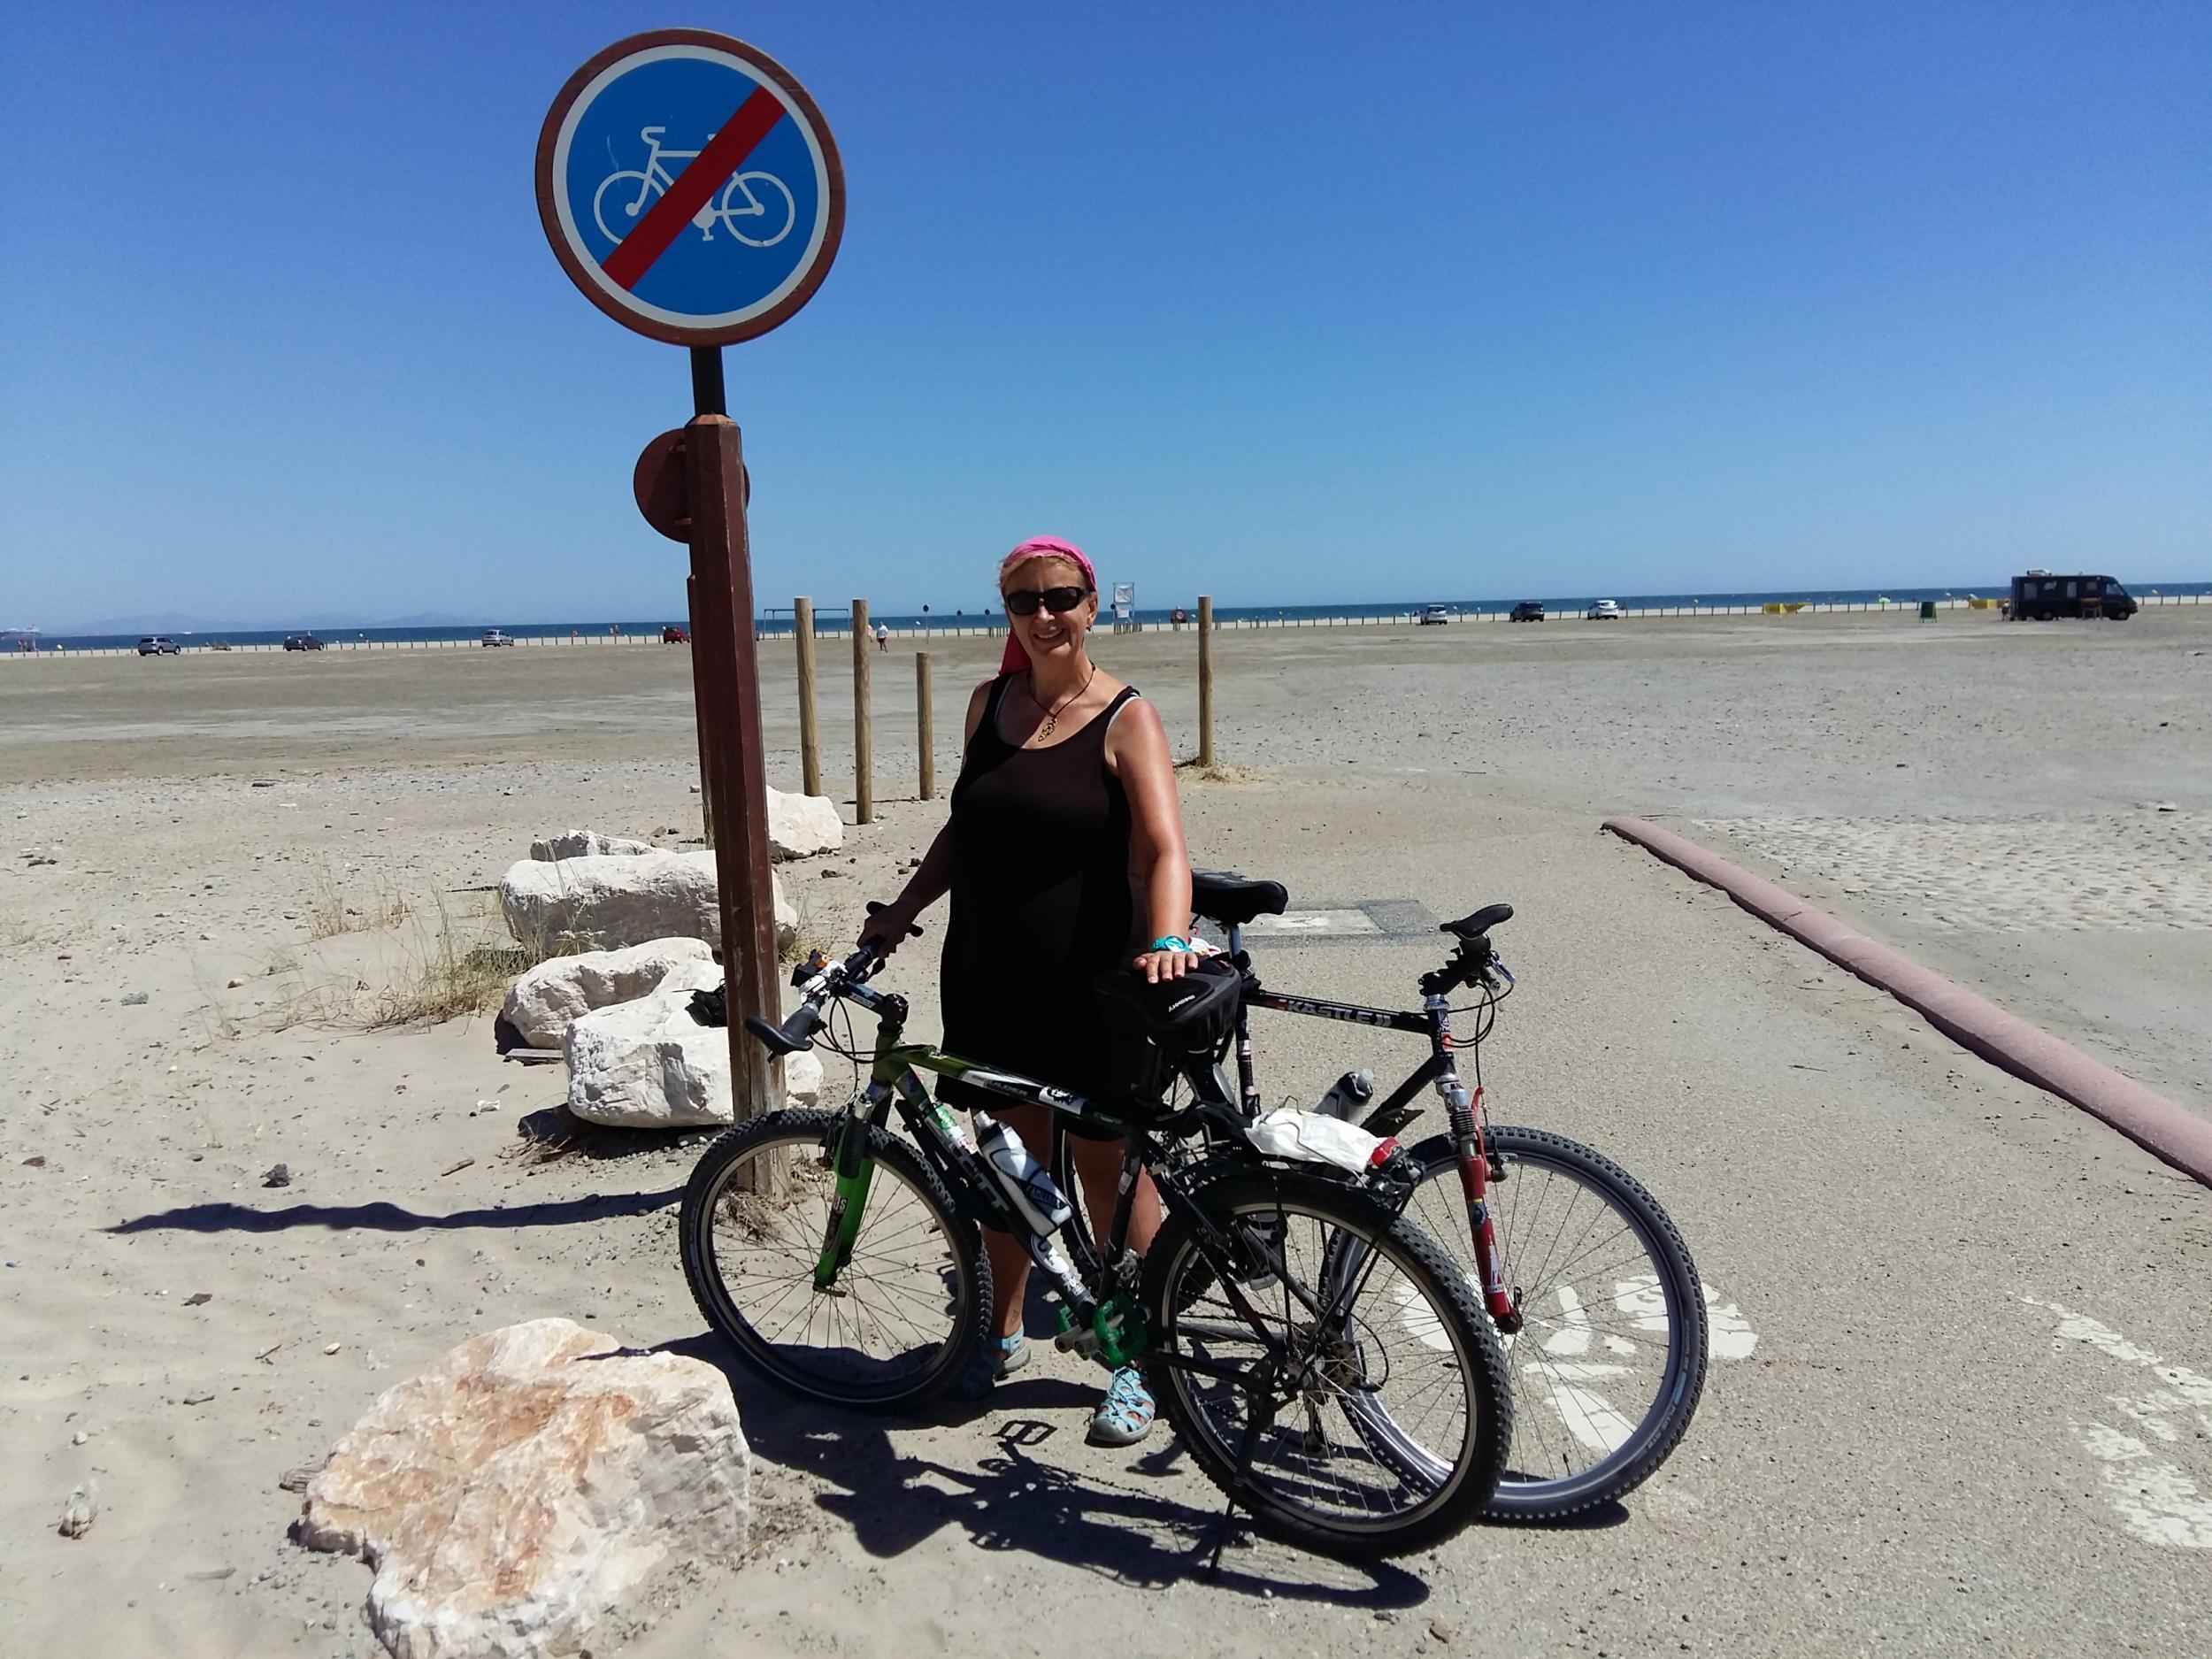
[[[2011,593],[2011,580],[2000,577],[1995,582],[1958,582],[1942,588],[1776,588],[1767,593],[1517,593],[1504,599],[1453,599],[1447,595],[1422,597],[1422,599],[1385,599],[1374,604],[1221,604],[1214,602],[1214,619],[1223,624],[1267,624],[1267,622],[1321,622],[1327,617],[1345,622],[1387,622],[1391,617],[1418,615],[1427,604],[1442,604],[1458,617],[1484,617],[1504,615],[1515,604],[1524,599],[1535,599],[1553,615],[1575,615],[1586,611],[1597,599],[1615,599],[1624,611],[1719,611],[1719,608],[1743,608],[1761,604],[1825,604],[1825,606],[1871,606],[1871,604],[1918,604],[1922,599],[1969,599],[1969,597],[2002,597]],[[2130,593],[2137,597],[2146,595],[2197,595],[2212,597],[2212,582],[2143,582],[2130,584]],[[1197,611],[1197,597],[1183,599],[1186,611]],[[1139,606],[1137,619],[1146,626],[1168,626],[1175,606]],[[186,650],[210,648],[217,644],[243,648],[243,646],[276,646],[283,644],[290,633],[314,633],[327,646],[374,641],[374,644],[456,644],[478,639],[484,628],[500,628],[515,639],[571,639],[571,637],[659,637],[661,628],[668,624],[684,626],[681,615],[670,617],[644,617],[628,622],[611,622],[606,617],[593,622],[502,622],[498,617],[487,617],[484,622],[471,624],[447,624],[434,628],[378,628],[378,626],[356,626],[356,628],[226,628],[226,630],[199,630],[199,633],[173,633],[170,637]],[[814,626],[816,630],[843,630],[849,622],[849,613],[838,606],[816,606]],[[872,613],[869,622],[885,624],[891,633],[916,633],[920,628],[931,630],[973,630],[973,633],[998,633],[1006,626],[1002,615],[991,611],[942,611],[927,608],[911,615],[900,613]],[[754,628],[763,637],[790,635],[792,613],[790,608],[768,608],[754,619]],[[7,630],[0,628],[0,650],[20,648],[20,639],[35,639],[38,650],[128,650],[137,646],[139,635],[80,635],[80,633],[38,633],[35,628]]]

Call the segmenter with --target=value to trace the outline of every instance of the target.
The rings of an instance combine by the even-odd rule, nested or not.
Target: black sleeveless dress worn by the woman
[[[1137,692],[1124,688],[1064,743],[1024,750],[998,730],[1011,684],[991,684],[953,783],[945,1048],[1119,1099],[1133,1055],[1104,1029],[1091,982],[1135,953],[1128,796],[1106,770],[1106,730]],[[942,1095],[987,1108],[993,1099],[956,1079]]]

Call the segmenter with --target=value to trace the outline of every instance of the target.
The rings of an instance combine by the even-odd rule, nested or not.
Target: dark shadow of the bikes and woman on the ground
[[[876,1557],[905,1555],[938,1531],[958,1526],[978,1548],[1026,1551],[1137,1588],[1206,1579],[1254,1599],[1265,1595],[1376,1610],[1413,1608],[1429,1599],[1429,1584],[1402,1566],[1334,1562],[1256,1540],[1243,1517],[1232,1526],[1221,1568],[1210,1571],[1221,1511],[1124,1480],[1139,1475],[1157,1482],[1181,1473],[1183,1449],[1164,1427],[1155,1431],[1161,1442],[1124,1471],[1068,1469],[1035,1455],[1071,1429],[1029,1411],[1075,1418],[1095,1405],[1095,1387],[1062,1378],[1009,1380],[989,1405],[938,1402],[896,1420],[925,1429],[971,1425],[1009,1409],[1022,1413],[998,1425],[991,1451],[960,1467],[900,1453],[887,1420],[785,1396],[748,1371],[710,1332],[664,1343],[659,1352],[723,1371],[743,1402],[752,1453],[832,1486],[818,1491],[814,1504],[843,1520],[860,1548]],[[1206,1493],[1212,1498],[1210,1486]]]

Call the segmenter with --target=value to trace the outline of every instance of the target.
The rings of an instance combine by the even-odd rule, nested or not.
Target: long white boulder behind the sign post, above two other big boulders
[[[792,942],[799,911],[768,876],[776,947]],[[721,898],[712,852],[524,858],[500,878],[507,929],[540,953],[619,951],[657,938],[701,938],[721,947]]]

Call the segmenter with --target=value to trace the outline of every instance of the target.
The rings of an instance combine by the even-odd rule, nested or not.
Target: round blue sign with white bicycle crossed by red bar
[[[584,299],[670,345],[765,334],[821,288],[845,168],[783,64],[703,29],[617,40],[538,135],[538,217]]]

